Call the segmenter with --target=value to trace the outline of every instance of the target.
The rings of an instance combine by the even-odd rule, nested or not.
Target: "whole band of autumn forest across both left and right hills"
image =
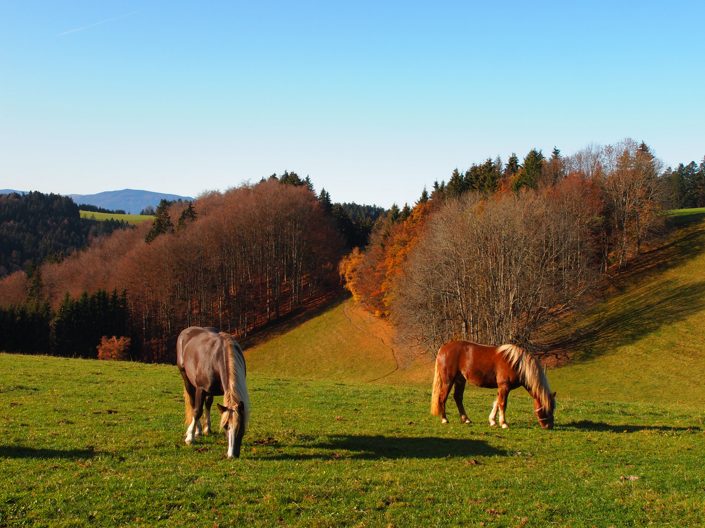
[[[162,201],[129,229],[80,222],[62,196],[3,195],[0,349],[95,358],[115,336],[168,363],[185,327],[246,337],[345,287],[419,353],[452,339],[537,351],[666,233],[666,210],[705,204],[704,175],[705,159],[664,168],[625,139],[487,158],[389,210],[331,203],[288,171]]]

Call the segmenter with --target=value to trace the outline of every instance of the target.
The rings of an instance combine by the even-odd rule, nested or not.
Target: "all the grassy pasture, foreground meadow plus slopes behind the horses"
[[[705,525],[704,242],[683,227],[582,319],[550,432],[519,391],[510,429],[482,389],[441,426],[429,363],[339,302],[248,343],[239,460],[183,444],[175,367],[0,354],[0,527]]]

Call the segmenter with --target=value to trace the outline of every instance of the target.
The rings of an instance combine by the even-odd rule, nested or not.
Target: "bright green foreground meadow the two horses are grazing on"
[[[183,444],[176,367],[0,355],[0,371],[0,526],[705,523],[701,410],[563,398],[546,432],[517,391],[512,427],[490,429],[494,394],[474,389],[473,424],[441,426],[427,386],[251,374],[228,460],[221,434]]]

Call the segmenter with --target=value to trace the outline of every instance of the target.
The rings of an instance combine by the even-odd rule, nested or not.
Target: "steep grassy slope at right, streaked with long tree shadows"
[[[683,227],[580,316],[560,396],[705,406],[705,222]]]

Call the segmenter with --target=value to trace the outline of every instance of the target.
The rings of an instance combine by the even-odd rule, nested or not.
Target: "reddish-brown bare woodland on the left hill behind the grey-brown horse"
[[[61,355],[73,350],[92,357],[87,355],[102,336],[116,335],[130,337],[131,357],[169,362],[185,327],[215,326],[247,336],[340,288],[336,268],[346,250],[331,215],[336,204],[327,208],[309,182],[286,172],[195,202],[163,201],[154,222],[96,239],[70,258],[44,262],[29,274],[5,277],[0,302],[13,303],[6,310],[13,310],[18,325],[39,325],[32,317],[41,310],[29,306],[46,301],[53,310],[49,349]],[[104,291],[125,291],[121,329],[106,329],[100,315],[92,321],[64,315],[81,313],[69,309],[71,302],[84,306]],[[17,310],[28,315],[20,317]],[[65,320],[85,323],[90,346],[61,330]],[[32,346],[47,351],[36,344],[25,348]]]

